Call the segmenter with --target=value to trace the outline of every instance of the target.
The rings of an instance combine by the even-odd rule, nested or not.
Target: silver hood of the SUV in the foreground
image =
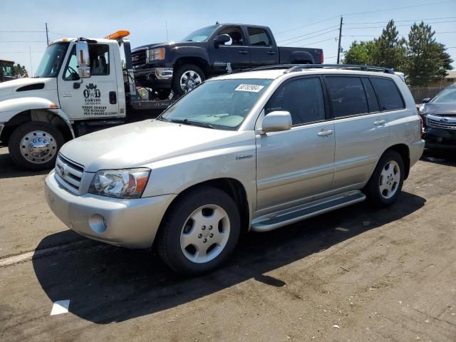
[[[67,142],[60,152],[87,172],[147,166],[151,162],[254,139],[249,131],[215,130],[145,120]]]

